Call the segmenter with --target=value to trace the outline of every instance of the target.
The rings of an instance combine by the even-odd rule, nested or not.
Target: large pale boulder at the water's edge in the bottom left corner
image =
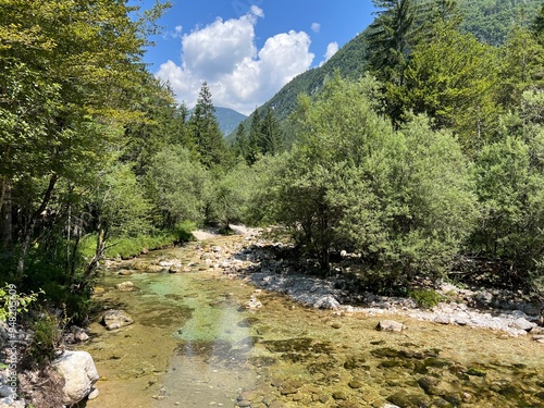
[[[69,406],[87,397],[99,379],[92,357],[87,351],[64,351],[52,362],[52,367],[64,380],[63,403]]]

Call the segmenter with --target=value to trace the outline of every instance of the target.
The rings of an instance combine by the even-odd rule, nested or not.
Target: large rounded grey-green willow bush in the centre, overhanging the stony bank
[[[375,87],[335,77],[300,100],[299,144],[271,187],[276,217],[323,268],[331,248],[348,246],[391,282],[436,277],[474,217],[468,163],[424,118],[395,132],[369,99]]]

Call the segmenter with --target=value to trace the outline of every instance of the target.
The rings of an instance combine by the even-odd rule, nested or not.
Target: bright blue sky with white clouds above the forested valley
[[[203,81],[215,106],[249,114],[319,66],[372,21],[371,0],[171,0],[145,61],[191,108]],[[151,4],[144,0],[143,8]]]

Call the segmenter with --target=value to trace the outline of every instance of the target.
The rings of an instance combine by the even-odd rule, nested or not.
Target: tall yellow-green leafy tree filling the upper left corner
[[[0,206],[11,193],[20,214],[11,228],[20,237],[18,279],[33,237],[44,236],[36,228],[48,225],[58,185],[85,185],[111,146],[122,144],[118,125],[141,116],[133,101],[146,75],[149,26],[132,17],[135,11],[116,1],[2,3]],[[3,222],[2,230],[10,226]]]

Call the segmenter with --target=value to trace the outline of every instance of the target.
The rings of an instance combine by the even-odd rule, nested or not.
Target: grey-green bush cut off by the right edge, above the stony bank
[[[509,264],[514,285],[542,276],[544,247],[544,129],[506,118],[503,138],[477,162],[481,220],[472,245]],[[514,124],[514,126],[511,126]]]

